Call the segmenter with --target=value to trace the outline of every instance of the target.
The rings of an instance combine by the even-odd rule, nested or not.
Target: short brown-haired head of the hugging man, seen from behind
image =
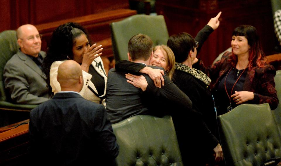
[[[128,43],[128,52],[131,59],[148,60],[151,56],[153,42],[151,38],[145,34],[136,34],[131,37]]]

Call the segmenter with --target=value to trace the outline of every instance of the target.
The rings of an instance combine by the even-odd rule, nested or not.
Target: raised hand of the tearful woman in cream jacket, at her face
[[[81,64],[82,70],[85,72],[89,71],[89,66],[92,64],[93,60],[102,55],[102,45],[95,47],[96,44],[93,44],[83,55],[83,61]]]

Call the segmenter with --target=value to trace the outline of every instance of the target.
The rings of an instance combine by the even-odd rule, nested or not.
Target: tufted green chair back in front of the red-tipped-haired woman
[[[281,156],[280,135],[268,103],[242,104],[217,120],[226,165],[260,166]]]

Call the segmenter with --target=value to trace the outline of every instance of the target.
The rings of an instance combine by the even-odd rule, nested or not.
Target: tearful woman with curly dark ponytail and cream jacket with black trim
[[[49,96],[61,91],[56,79],[57,70],[64,60],[75,60],[83,70],[84,86],[80,95],[102,103],[106,94],[107,76],[100,55],[102,46],[91,45],[88,32],[78,23],[66,23],[54,30],[47,56],[44,58],[43,72],[47,77]]]

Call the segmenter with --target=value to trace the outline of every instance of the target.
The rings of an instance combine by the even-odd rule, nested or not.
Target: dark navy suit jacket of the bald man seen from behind
[[[119,148],[103,105],[57,93],[30,112],[30,153],[39,165],[108,165]]]

